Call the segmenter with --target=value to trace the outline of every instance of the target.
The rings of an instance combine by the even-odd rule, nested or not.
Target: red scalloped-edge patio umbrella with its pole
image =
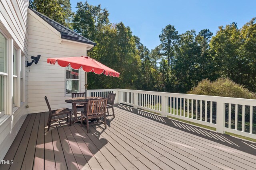
[[[84,87],[87,89],[87,72],[94,72],[96,74],[105,74],[106,76],[119,77],[119,72],[101,64],[100,62],[90,57],[61,57],[61,58],[48,58],[47,63],[58,63],[62,67],[70,66],[71,68],[78,70],[82,68],[86,72],[86,82]]]

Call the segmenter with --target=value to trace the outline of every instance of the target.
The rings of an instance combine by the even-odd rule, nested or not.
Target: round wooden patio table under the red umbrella
[[[74,122],[81,121],[77,119],[77,109],[76,104],[87,104],[88,100],[90,99],[102,99],[102,97],[79,97],[79,98],[70,98],[68,100],[65,100],[66,103],[72,103],[72,107],[74,109],[74,116],[75,120]]]

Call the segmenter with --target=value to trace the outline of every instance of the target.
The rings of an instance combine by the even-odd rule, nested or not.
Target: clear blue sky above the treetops
[[[80,1],[70,0],[73,11]],[[220,25],[234,21],[240,28],[256,17],[256,0],[88,0],[88,3],[101,4],[109,11],[111,23],[122,21],[148,49],[160,44],[158,36],[168,24],[174,25],[179,33],[210,29],[215,35]]]

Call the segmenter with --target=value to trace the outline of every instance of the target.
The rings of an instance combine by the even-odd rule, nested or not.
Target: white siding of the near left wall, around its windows
[[[0,29],[7,38],[12,38],[17,49],[28,59],[28,0],[1,0],[0,1]],[[19,57],[19,56],[18,56]],[[24,68],[25,69],[25,68]],[[23,80],[25,82],[25,100],[14,113],[7,113],[0,118],[0,160],[3,160],[6,152],[14,141],[24,119],[27,115],[27,82],[28,69],[25,69]],[[11,75],[8,75],[11,76]],[[12,101],[6,101],[12,102]]]

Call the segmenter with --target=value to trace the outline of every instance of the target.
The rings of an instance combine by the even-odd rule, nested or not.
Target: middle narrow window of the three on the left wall
[[[12,107],[17,106],[17,50],[13,48],[13,86],[12,86]]]

